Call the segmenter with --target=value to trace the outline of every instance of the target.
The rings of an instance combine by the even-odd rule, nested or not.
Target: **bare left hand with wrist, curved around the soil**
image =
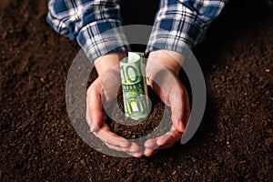
[[[142,148],[113,133],[106,125],[107,116],[102,112],[103,106],[107,106],[116,98],[118,87],[121,86],[119,61],[125,56],[126,53],[123,52],[112,53],[95,60],[98,77],[87,89],[86,120],[90,131],[105,142],[107,147],[141,157]]]

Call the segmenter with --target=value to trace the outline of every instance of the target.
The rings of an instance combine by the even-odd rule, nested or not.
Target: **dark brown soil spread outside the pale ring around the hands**
[[[124,24],[152,24],[157,1],[132,0],[139,16],[122,2]],[[1,181],[273,181],[271,6],[227,5],[194,50],[207,84],[201,126],[186,145],[142,158],[106,156],[77,135],[66,77],[80,47],[45,23],[46,11],[45,0],[0,2]],[[154,127],[163,105],[150,95]]]

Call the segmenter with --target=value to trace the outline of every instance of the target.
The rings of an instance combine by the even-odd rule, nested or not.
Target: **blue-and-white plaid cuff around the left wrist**
[[[76,37],[91,63],[108,53],[130,51],[119,20],[106,19],[83,27]]]

